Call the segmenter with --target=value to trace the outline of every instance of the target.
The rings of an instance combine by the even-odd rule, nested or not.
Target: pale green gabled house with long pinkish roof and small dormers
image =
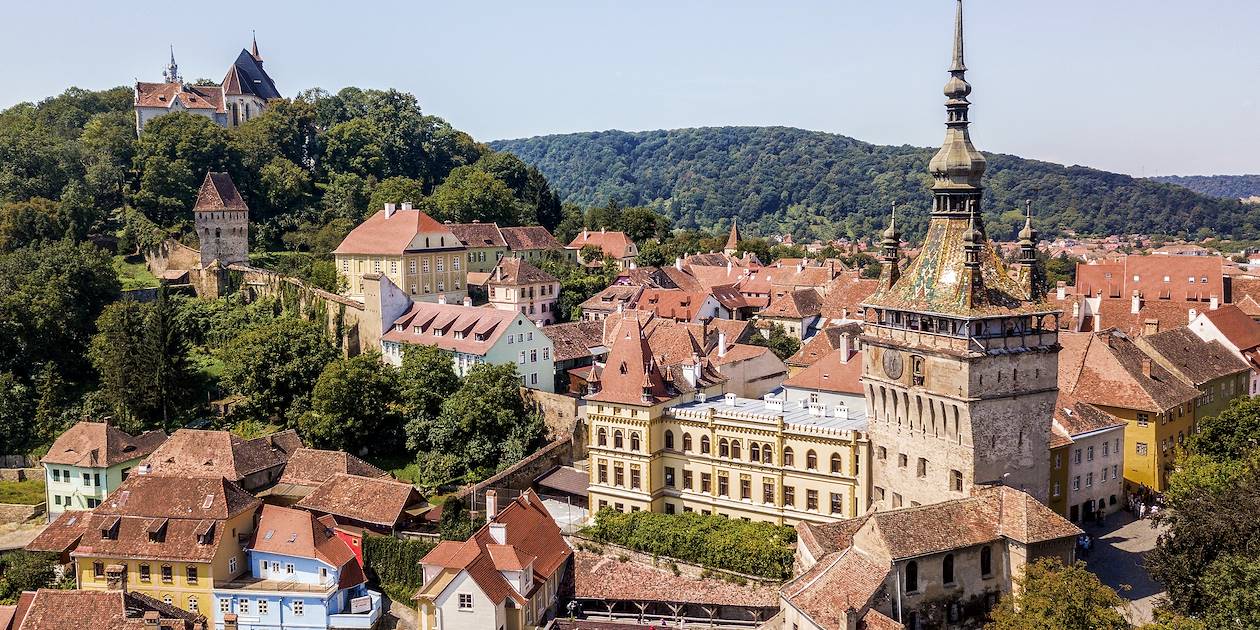
[[[388,363],[401,365],[407,345],[442,349],[460,377],[479,363],[510,363],[522,387],[556,391],[556,346],[518,311],[413,302],[381,336],[381,353]]]

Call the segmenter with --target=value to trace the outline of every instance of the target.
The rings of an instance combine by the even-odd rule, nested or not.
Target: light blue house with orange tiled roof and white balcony
[[[217,630],[372,627],[381,617],[381,593],[350,546],[309,512],[263,505],[246,554],[246,576],[214,585]]]

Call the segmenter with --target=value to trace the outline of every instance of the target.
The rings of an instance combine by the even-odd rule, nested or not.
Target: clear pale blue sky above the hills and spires
[[[218,81],[251,30],[281,93],[415,93],[483,141],[784,125],[942,137],[950,0],[5,3],[0,107]],[[966,0],[973,139],[1139,176],[1260,173],[1260,3]]]

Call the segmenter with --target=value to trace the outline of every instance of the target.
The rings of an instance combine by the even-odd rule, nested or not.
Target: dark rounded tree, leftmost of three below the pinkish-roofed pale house
[[[359,452],[397,449],[398,381],[377,353],[328,364],[301,416],[302,436],[318,449]]]

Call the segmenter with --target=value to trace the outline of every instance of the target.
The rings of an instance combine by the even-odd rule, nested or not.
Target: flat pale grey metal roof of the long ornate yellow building
[[[837,404],[788,402],[782,388],[765,398],[740,398],[735,394],[709,396],[701,399],[697,396],[690,402],[677,404],[669,410],[673,416],[706,416],[737,418],[755,422],[774,423],[782,417],[784,427],[815,428],[825,431],[866,431],[866,406],[849,404],[843,411]]]

